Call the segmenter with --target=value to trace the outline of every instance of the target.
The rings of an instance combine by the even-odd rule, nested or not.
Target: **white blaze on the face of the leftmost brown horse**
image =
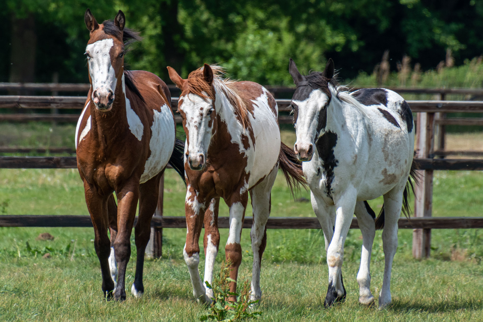
[[[85,47],[90,58],[87,60],[89,75],[92,79],[92,88],[106,88],[113,93],[116,88],[116,75],[111,64],[111,48],[114,46],[112,38],[99,40]]]

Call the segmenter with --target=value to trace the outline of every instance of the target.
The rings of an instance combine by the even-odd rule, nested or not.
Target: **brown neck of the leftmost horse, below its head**
[[[111,111],[101,112],[91,104],[91,128],[97,140],[107,141],[117,137],[117,134],[125,131],[128,126],[126,118],[126,89],[124,85],[124,73],[121,81],[117,81],[114,91],[114,102]],[[125,126],[123,126],[125,125]]]

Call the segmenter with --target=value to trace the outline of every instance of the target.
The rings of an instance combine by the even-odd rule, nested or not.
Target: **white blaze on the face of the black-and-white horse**
[[[320,89],[313,90],[305,100],[292,100],[298,106],[298,117],[295,124],[297,141],[295,144],[315,144],[319,113],[326,105],[327,100],[327,95]]]

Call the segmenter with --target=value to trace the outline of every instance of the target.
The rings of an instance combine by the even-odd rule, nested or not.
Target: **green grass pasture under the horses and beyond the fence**
[[[7,126],[8,127],[8,126]],[[41,126],[42,127],[42,126]],[[49,126],[35,132],[51,133]],[[2,125],[2,131],[5,128]],[[22,131],[28,133],[28,126]],[[68,134],[69,133],[69,134]],[[61,126],[53,128],[51,142],[65,144],[72,135]],[[455,139],[456,138],[456,139]],[[458,136],[448,135],[448,140]],[[478,140],[480,134],[464,140]],[[282,140],[293,144],[294,133],[284,131]],[[25,139],[33,140],[28,135]],[[39,137],[39,146],[44,140]],[[68,141],[69,142],[69,141]],[[72,138],[73,142],[73,138]],[[10,142],[9,142],[10,143]],[[7,143],[7,144],[9,144]],[[22,142],[11,142],[13,145]],[[34,141],[28,145],[35,145]],[[454,143],[457,145],[457,142]],[[27,144],[26,144],[27,145]],[[479,171],[435,171],[434,216],[481,216],[483,174]],[[298,198],[309,198],[302,191]],[[174,170],[166,171],[166,215],[184,216],[185,187]],[[271,216],[312,216],[310,202],[293,201],[279,173],[272,190]],[[369,202],[376,210],[382,198]],[[0,212],[8,214],[86,215],[82,182],[73,169],[0,169]],[[248,203],[247,213],[251,212]],[[220,203],[220,215],[226,216]],[[48,232],[54,240],[37,240]],[[227,229],[220,242],[226,243]],[[482,321],[483,232],[478,229],[433,230],[431,258],[412,258],[412,231],[400,230],[393,266],[393,304],[386,310],[358,304],[357,274],[362,239],[350,230],[342,267],[347,299],[341,306],[324,309],[327,264],[321,230],[267,231],[259,321]],[[91,239],[92,228],[0,228],[0,321],[197,321],[205,314],[192,296],[188,269],[183,259],[185,229],[163,230],[163,258],[147,260],[142,299],[128,294],[126,302],[104,302],[99,290],[99,261]],[[27,242],[29,248],[27,247]],[[75,245],[75,246],[74,246]],[[134,279],[136,252],[128,264],[126,282]],[[241,237],[243,258],[239,279],[251,278],[252,250],[249,229]],[[37,254],[36,254],[37,252]],[[43,258],[45,252],[50,258]],[[72,255],[73,253],[73,255]],[[215,270],[225,257],[220,247]],[[371,259],[371,291],[382,284],[384,255],[381,231],[376,232]],[[201,255],[200,271],[204,269]]]

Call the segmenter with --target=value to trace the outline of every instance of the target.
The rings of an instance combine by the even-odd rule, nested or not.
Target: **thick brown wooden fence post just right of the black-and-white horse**
[[[434,114],[417,113],[416,157],[433,158]],[[415,186],[414,216],[431,217],[433,199],[433,170],[418,170],[421,175]],[[429,257],[431,251],[431,229],[414,229],[412,234],[412,256],[416,259]]]

